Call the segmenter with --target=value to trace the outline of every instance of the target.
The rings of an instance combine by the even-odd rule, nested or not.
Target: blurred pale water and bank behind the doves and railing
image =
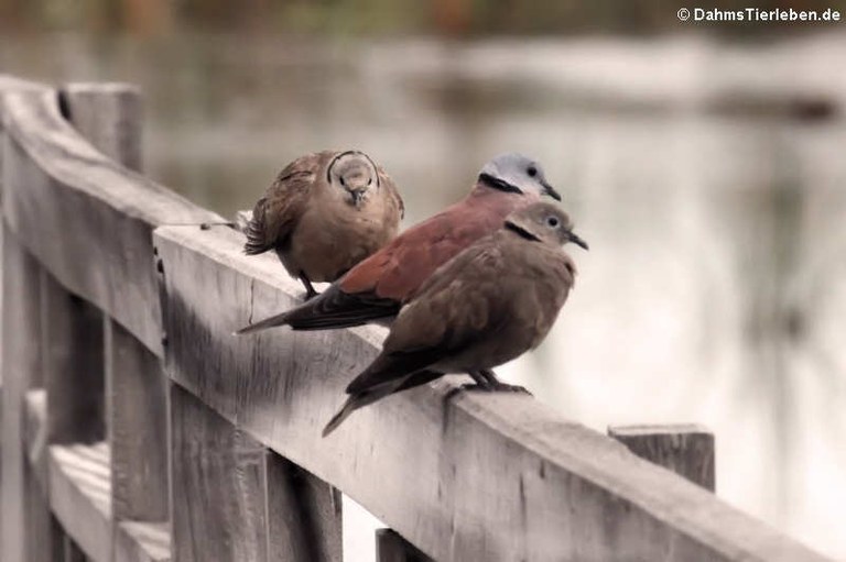
[[[225,216],[325,147],[383,164],[405,225],[535,156],[592,251],[502,374],[600,431],[708,426],[723,498],[846,560],[846,24],[679,7],[0,0],[0,71],[140,85],[147,173]]]

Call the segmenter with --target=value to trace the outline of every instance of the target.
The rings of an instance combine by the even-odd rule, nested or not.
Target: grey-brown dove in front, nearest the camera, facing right
[[[536,348],[552,328],[576,275],[561,246],[587,250],[572,229],[564,211],[538,202],[441,266],[400,310],[379,356],[349,384],[324,437],[356,409],[446,373],[467,373],[480,388],[513,388],[491,370]]]

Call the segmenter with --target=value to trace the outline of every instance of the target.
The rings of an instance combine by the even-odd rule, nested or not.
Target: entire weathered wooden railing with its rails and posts
[[[522,395],[442,381],[321,439],[383,331],[232,337],[299,288],[137,172],[138,92],[3,80],[3,562],[337,561],[338,489],[384,562],[823,560]],[[713,487],[709,436],[615,434]]]

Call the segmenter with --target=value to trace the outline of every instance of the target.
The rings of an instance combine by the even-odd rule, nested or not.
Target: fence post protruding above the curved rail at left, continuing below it
[[[70,84],[61,92],[61,104],[65,117],[95,147],[140,172],[142,117],[138,88],[126,84]],[[113,518],[116,522],[165,521],[166,378],[160,360],[123,327],[106,317],[104,331]]]

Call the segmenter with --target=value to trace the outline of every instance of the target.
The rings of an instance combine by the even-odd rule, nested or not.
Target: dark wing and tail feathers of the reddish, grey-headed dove
[[[348,295],[330,285],[321,295],[281,315],[238,330],[237,334],[253,333],[275,326],[294,330],[334,330],[361,326],[390,318],[400,310],[395,300],[368,295]]]

